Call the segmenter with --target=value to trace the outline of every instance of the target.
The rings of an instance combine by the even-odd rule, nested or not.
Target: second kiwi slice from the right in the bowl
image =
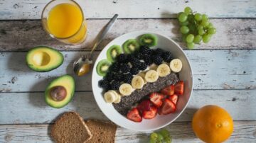
[[[124,42],[122,47],[126,54],[132,54],[133,52],[139,50],[139,42],[137,42],[136,39],[129,39]]]

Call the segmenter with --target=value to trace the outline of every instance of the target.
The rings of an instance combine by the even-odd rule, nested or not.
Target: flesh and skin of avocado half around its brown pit
[[[50,90],[55,86],[63,86],[67,92],[67,96],[63,99],[63,101],[54,101],[53,98],[50,96]],[[63,106],[67,105],[74,96],[75,92],[75,79],[73,76],[64,75],[60,76],[57,79],[54,79],[50,82],[47,86],[45,91],[45,100],[48,105],[53,108],[62,108]]]

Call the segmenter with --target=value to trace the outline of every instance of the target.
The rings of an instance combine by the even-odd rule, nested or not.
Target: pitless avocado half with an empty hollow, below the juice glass
[[[58,50],[46,46],[33,47],[26,55],[28,67],[41,72],[60,67],[63,59],[63,55]]]

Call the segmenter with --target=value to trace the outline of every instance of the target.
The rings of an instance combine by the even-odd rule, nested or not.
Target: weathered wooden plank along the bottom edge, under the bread
[[[227,142],[256,142],[256,121],[234,122],[233,135]],[[166,127],[173,142],[202,142],[194,134],[190,122],[174,122]],[[50,125],[0,125],[0,142],[53,142]],[[151,132],[136,132],[117,127],[116,142],[149,142]]]

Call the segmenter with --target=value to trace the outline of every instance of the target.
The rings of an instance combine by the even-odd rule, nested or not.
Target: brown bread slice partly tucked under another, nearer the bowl
[[[114,143],[117,125],[100,120],[87,120],[85,123],[92,132],[92,138],[86,143]]]

